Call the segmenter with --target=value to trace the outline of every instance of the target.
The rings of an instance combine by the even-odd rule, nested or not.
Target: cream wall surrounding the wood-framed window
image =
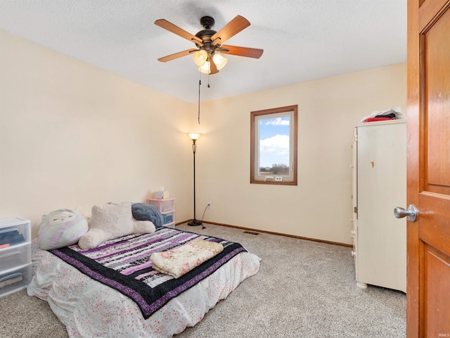
[[[298,185],[250,184],[250,111],[293,104]],[[211,202],[205,220],[351,243],[353,126],[394,106],[406,112],[405,63],[203,104],[198,212]]]

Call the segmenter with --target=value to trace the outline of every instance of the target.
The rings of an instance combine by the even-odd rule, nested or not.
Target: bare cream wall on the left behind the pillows
[[[0,218],[32,220],[164,186],[191,216],[190,105],[1,32]],[[179,149],[185,148],[186,151]]]

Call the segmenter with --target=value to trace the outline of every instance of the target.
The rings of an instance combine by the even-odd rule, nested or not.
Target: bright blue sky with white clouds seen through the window
[[[259,121],[259,165],[289,166],[289,117],[268,118]]]

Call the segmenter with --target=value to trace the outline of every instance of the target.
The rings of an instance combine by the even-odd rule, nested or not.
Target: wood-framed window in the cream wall
[[[297,105],[252,111],[250,183],[297,185]]]

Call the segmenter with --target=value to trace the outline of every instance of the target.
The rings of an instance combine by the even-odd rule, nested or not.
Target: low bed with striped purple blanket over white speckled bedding
[[[194,239],[224,250],[178,278],[153,269],[148,256]],[[238,243],[159,227],[83,250],[41,250],[32,242],[30,296],[49,303],[70,337],[172,337],[200,322],[215,304],[259,270]]]

